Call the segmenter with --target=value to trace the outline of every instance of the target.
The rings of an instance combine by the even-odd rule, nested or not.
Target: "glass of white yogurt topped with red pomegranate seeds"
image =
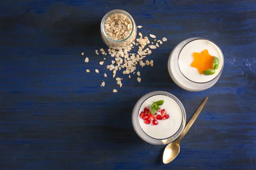
[[[157,113],[152,115],[152,104],[160,100],[164,101],[163,105],[160,105]],[[186,112],[180,100],[174,95],[165,91],[153,91],[142,96],[135,104],[132,124],[137,135],[145,142],[169,144],[184,130]]]

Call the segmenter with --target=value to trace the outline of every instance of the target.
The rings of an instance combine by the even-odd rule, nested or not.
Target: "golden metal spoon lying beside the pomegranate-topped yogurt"
[[[188,124],[186,125],[185,129],[181,133],[180,137],[170,144],[168,144],[163,152],[163,163],[168,164],[173,159],[175,159],[178,154],[180,153],[180,141],[181,139],[186,135],[186,133],[189,131],[190,127],[195,122],[195,119],[198,117],[201,110],[204,108],[204,105],[207,101],[208,97],[204,99],[204,102],[199,106],[198,110],[194,113],[192,118],[189,120]]]

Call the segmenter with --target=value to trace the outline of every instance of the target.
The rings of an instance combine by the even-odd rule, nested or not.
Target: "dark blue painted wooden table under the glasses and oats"
[[[143,34],[168,39],[148,57],[154,67],[138,68],[140,83],[117,74],[122,88],[95,54],[107,49],[99,25],[113,9],[128,11]],[[185,91],[168,74],[170,52],[189,37],[224,54],[206,91]],[[254,0],[2,0],[0,59],[0,170],[256,169]],[[137,100],[157,90],[181,100],[187,121],[209,97],[170,164],[161,161],[165,146],[145,143],[131,124]]]

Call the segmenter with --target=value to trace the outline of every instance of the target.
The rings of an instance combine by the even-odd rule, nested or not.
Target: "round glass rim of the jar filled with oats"
[[[128,19],[131,21],[131,33],[128,35],[128,37],[126,37],[125,39],[123,40],[113,40],[111,39],[110,37],[108,37],[108,35],[106,34],[105,32],[105,28],[104,28],[104,24],[105,24],[105,21],[108,19],[109,16],[111,16],[112,14],[116,14],[116,13],[120,13],[120,14],[123,14],[125,15],[126,17],[128,17]],[[104,37],[106,37],[106,39],[108,41],[111,41],[111,42],[114,42],[114,43],[118,43],[118,42],[125,42],[126,40],[128,40],[133,31],[134,31],[134,21],[133,21],[133,17],[131,17],[131,15],[127,12],[127,11],[124,11],[122,9],[114,9],[112,11],[109,11],[107,14],[105,14],[105,16],[102,18],[102,22],[101,22],[101,31],[102,31],[102,34],[104,35]]]

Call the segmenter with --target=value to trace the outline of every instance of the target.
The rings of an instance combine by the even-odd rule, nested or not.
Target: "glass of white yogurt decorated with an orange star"
[[[207,51],[210,57],[218,58],[218,69],[211,69],[214,74],[204,75],[198,68],[192,67],[195,62],[194,54]],[[203,61],[203,59],[199,60]],[[201,65],[200,65],[201,64]],[[204,62],[198,64],[204,67]],[[203,91],[212,87],[221,76],[224,56],[217,44],[204,38],[189,38],[180,42],[170,54],[168,70],[172,80],[187,91]]]

